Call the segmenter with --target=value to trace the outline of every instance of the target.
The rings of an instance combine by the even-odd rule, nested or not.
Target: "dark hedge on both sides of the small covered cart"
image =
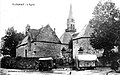
[[[39,57],[3,57],[1,59],[1,68],[7,69],[32,69],[38,70],[40,61]],[[54,59],[54,68],[64,66],[63,59]]]

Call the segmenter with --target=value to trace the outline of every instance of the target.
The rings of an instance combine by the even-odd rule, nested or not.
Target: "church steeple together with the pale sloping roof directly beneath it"
[[[72,5],[70,5],[69,16],[67,19],[67,29],[60,37],[61,43],[69,44],[70,40],[72,39],[72,35],[76,32],[75,29],[75,20],[72,17]],[[64,46],[67,49],[67,47]]]

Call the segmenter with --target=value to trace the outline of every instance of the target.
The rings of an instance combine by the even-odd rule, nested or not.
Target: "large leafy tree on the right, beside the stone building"
[[[104,49],[103,57],[111,60],[111,49],[120,47],[120,10],[111,1],[99,2],[89,25],[93,28],[90,39],[92,47]]]

